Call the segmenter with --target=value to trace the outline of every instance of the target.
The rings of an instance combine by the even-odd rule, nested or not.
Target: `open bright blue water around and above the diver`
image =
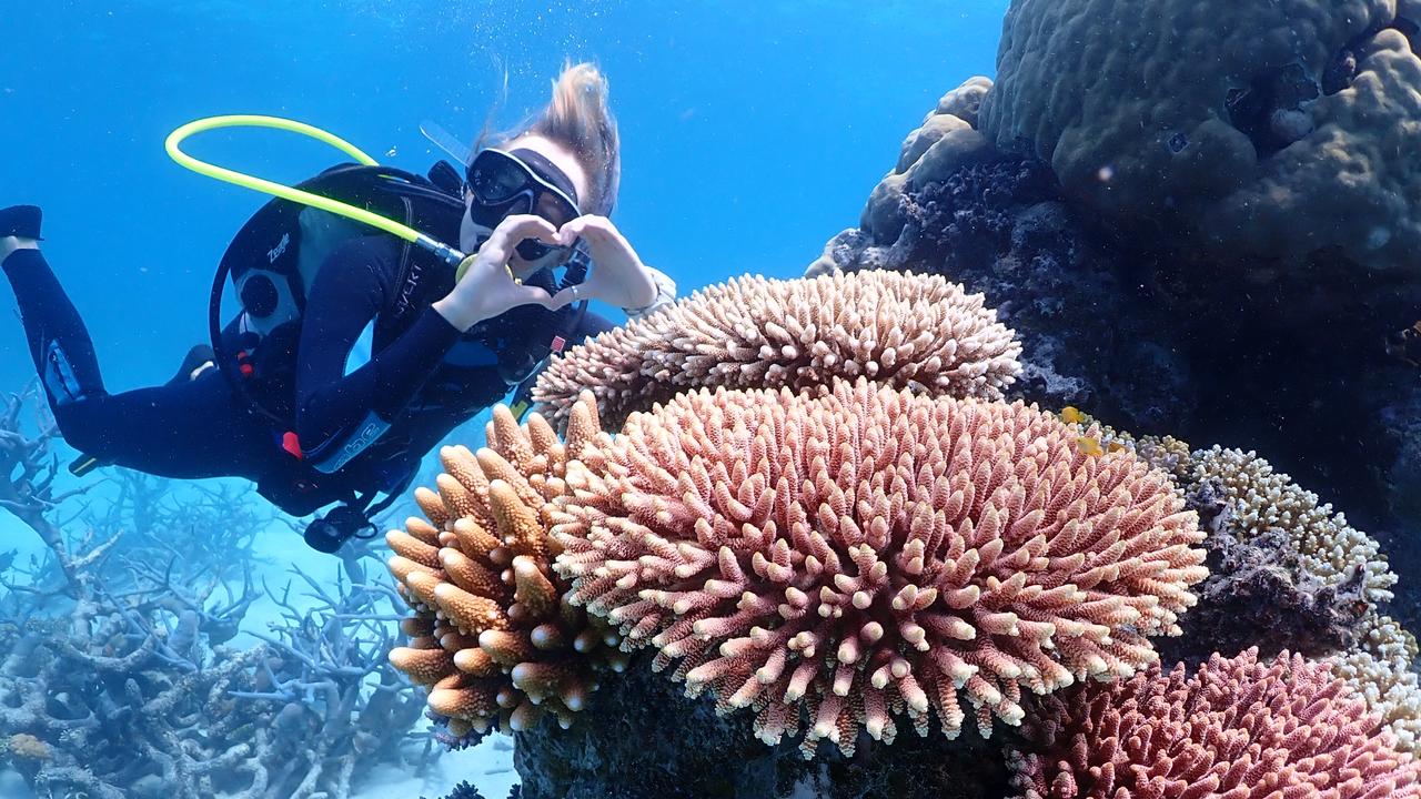
[[[0,205],[45,210],[45,249],[109,391],[166,380],[205,340],[212,270],[264,198],[178,168],[169,131],[210,114],[293,117],[423,171],[435,119],[510,125],[566,57],[597,60],[624,142],[614,220],[684,293],[797,276],[857,225],[907,131],[992,74],[1006,0],[490,3],[21,1],[0,45]],[[195,154],[280,181],[338,156],[286,134],[209,134]],[[7,289],[0,303],[13,307]],[[0,390],[33,374],[0,316]],[[0,525],[7,522],[0,520]]]

